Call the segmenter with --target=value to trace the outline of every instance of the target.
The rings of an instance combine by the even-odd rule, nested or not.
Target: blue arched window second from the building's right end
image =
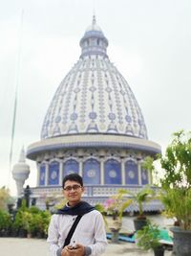
[[[135,161],[125,163],[125,183],[138,185],[138,164]]]

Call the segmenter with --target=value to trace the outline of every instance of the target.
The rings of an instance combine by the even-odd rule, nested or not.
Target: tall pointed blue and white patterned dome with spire
[[[107,56],[108,40],[96,25],[80,40],[82,53],[60,83],[47,111],[41,139],[109,133],[147,139],[138,102]]]

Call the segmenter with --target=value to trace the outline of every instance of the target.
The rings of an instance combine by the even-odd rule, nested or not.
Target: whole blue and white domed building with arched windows
[[[32,197],[61,195],[62,179],[83,176],[84,198],[95,204],[119,188],[138,191],[152,183],[141,166],[160,152],[148,140],[138,102],[107,55],[108,39],[96,17],[80,40],[81,55],[58,86],[44,119],[41,140],[27,157],[37,163]]]

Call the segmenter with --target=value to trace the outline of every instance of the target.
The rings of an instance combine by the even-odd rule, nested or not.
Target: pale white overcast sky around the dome
[[[191,130],[190,0],[0,0],[0,186],[9,180],[16,77],[12,165],[23,145],[40,139],[53,94],[79,58],[79,40],[94,10],[109,40],[109,58],[141,107],[149,139],[164,151],[174,131]],[[26,184],[35,186],[35,164],[27,162]],[[15,194],[12,178],[10,187]]]

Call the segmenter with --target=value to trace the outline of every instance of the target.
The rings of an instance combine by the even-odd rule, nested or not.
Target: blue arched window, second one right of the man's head
[[[115,159],[109,159],[104,163],[105,184],[121,184],[121,166]]]

